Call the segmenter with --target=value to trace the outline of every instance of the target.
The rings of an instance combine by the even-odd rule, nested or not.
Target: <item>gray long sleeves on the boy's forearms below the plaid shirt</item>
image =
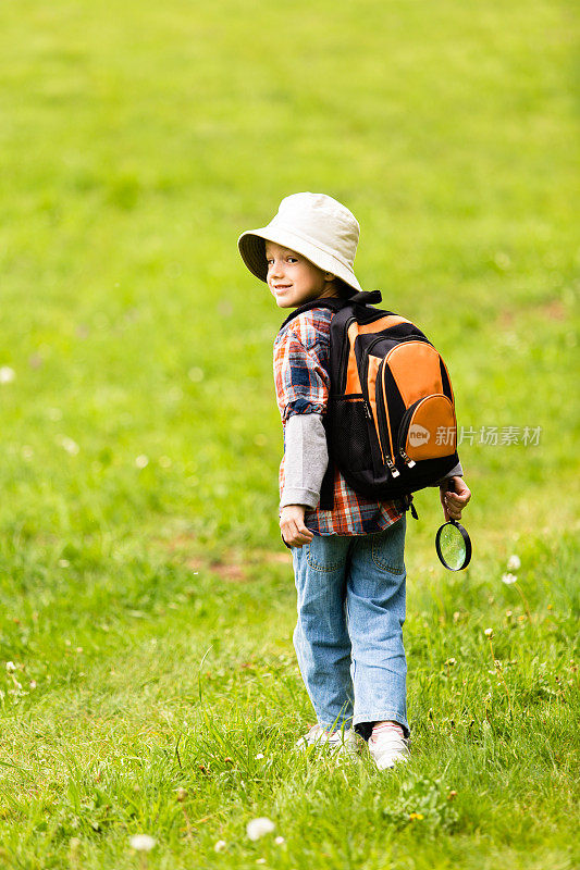
[[[329,464],[321,414],[293,414],[286,421],[284,444],[284,488],[280,507],[306,505],[313,509],[320,501],[320,487]],[[462,475],[458,462],[441,481]],[[439,486],[441,481],[433,486]]]

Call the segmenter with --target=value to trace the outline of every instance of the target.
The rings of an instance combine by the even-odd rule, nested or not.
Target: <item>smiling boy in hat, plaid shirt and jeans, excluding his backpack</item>
[[[355,216],[323,194],[294,194],[260,229],[238,239],[248,269],[279,308],[359,291]],[[280,529],[291,547],[298,621],[294,645],[318,722],[298,743],[356,751],[362,735],[380,769],[409,755],[403,646],[406,510],[410,498],[371,501],[334,469],[334,508],[321,510],[329,463],[322,417],[330,389],[333,312],[316,307],[274,340],[274,382],[284,428]],[[445,520],[471,494],[458,463],[440,481]],[[452,480],[455,492],[447,492]]]

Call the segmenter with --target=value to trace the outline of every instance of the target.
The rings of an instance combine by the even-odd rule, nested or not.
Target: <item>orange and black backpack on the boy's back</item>
[[[414,323],[370,304],[381,298],[373,290],[317,299],[283,324],[310,308],[334,311],[322,510],[333,508],[333,463],[355,492],[386,501],[436,484],[459,461],[447,366]]]

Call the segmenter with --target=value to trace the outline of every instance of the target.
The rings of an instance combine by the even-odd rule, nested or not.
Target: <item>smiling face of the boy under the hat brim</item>
[[[311,299],[336,295],[334,276],[300,253],[267,241],[266,259],[268,286],[279,308],[297,308]]]

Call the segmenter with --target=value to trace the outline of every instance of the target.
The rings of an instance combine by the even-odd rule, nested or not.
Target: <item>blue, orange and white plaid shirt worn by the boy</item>
[[[324,414],[330,390],[330,322],[333,312],[313,308],[298,314],[274,340],[274,384],[282,424],[293,414]],[[284,457],[280,464],[284,488]],[[370,501],[355,493],[334,469],[334,510],[307,509],[305,525],[318,535],[368,535],[381,532],[404,513],[402,500]]]

